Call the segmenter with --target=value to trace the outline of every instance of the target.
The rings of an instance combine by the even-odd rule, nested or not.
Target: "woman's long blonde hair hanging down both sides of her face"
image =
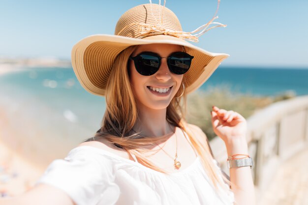
[[[138,161],[142,162],[147,167],[167,174],[167,172],[155,166],[150,160],[143,157],[141,154],[149,151],[146,148],[142,148],[143,146],[159,143],[165,139],[165,136],[140,138],[138,133],[132,131],[134,124],[138,120],[138,109],[129,81],[128,58],[135,48],[136,46],[128,47],[115,59],[113,69],[107,82],[106,111],[102,120],[101,128],[93,138],[89,138],[86,141],[92,141],[97,138],[107,139],[115,146],[121,147],[129,153],[135,154]],[[183,83],[185,85],[185,74],[183,77]],[[183,87],[178,90],[176,96],[180,96],[182,93]],[[218,190],[218,184],[220,187],[225,188],[226,185],[218,176],[219,170],[214,164],[213,153],[209,143],[200,142],[198,138],[194,136],[195,133],[191,132],[189,129],[188,123],[185,122],[185,108],[186,93],[184,90],[183,96],[173,98],[168,105],[166,120],[171,125],[181,128],[187,134],[192,146],[200,156],[203,167],[215,185],[216,190]],[[208,142],[206,136],[205,141]],[[221,175],[221,177],[227,184],[231,184],[225,176]]]

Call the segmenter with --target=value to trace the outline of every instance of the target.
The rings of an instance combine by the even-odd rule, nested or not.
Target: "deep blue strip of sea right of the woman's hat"
[[[274,96],[288,91],[307,95],[308,69],[219,67],[201,89],[221,85],[255,96]]]

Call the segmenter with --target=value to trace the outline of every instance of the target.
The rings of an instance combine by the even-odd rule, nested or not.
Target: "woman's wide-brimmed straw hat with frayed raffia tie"
[[[90,35],[75,44],[71,53],[74,72],[87,91],[104,96],[114,60],[124,49],[153,43],[177,44],[185,46],[186,52],[194,56],[184,74],[185,90],[189,93],[199,88],[229,56],[208,52],[186,41],[198,41],[198,36],[208,31],[210,24],[226,26],[213,22],[216,18],[192,32],[184,32],[177,16],[165,6],[153,3],[135,6],[120,17],[115,35]]]

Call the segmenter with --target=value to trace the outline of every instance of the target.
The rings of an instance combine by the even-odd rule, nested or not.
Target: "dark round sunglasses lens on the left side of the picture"
[[[159,69],[159,59],[156,56],[141,54],[135,60],[135,67],[141,75],[153,75]]]

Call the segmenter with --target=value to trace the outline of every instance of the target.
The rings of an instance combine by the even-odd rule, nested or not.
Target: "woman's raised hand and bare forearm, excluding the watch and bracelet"
[[[234,111],[213,106],[212,125],[214,132],[225,143],[228,157],[236,154],[248,156],[246,142],[246,119]],[[255,205],[254,185],[249,166],[230,168],[230,181],[238,205]]]

